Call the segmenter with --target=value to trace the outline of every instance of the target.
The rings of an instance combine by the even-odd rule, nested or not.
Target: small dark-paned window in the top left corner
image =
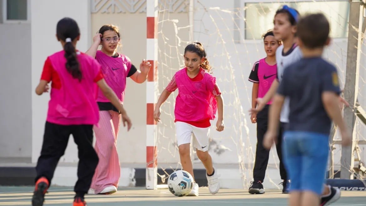
[[[30,5],[28,0],[2,0],[4,23],[29,22]]]

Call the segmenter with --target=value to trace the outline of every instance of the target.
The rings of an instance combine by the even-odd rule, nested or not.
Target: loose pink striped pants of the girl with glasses
[[[116,143],[121,115],[113,110],[99,111],[99,115],[99,127],[93,128],[96,137],[95,151],[98,154],[99,163],[90,186],[95,190],[95,194],[109,186],[117,187],[120,179]]]

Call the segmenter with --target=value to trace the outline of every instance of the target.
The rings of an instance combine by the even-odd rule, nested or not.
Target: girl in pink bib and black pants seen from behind
[[[36,188],[32,205],[43,205],[56,165],[64,155],[72,134],[79,150],[74,206],[86,206],[84,194],[90,187],[98,163],[98,156],[92,145],[93,125],[99,120],[95,100],[96,85],[119,109],[123,125],[127,123],[128,129],[131,128],[131,121],[116,94],[106,84],[99,63],[89,55],[75,50],[76,42],[80,38],[77,23],[71,18],[61,19],[57,23],[56,36],[64,49],[48,56],[36,88],[37,95],[48,92],[48,83],[52,81],[41,156],[36,166]]]

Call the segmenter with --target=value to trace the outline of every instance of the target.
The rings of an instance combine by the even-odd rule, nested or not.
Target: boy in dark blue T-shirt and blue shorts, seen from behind
[[[339,109],[341,91],[337,70],[321,58],[324,46],[330,42],[329,30],[323,14],[300,19],[297,35],[303,58],[285,68],[269,112],[263,143],[268,149],[277,136],[284,99],[290,98],[289,124],[283,144],[285,166],[291,179],[290,206],[320,204],[332,120],[340,129],[342,143],[347,145],[351,141]]]

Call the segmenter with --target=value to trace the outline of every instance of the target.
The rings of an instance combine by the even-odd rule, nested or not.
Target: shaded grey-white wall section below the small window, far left
[[[0,157],[30,158],[30,24],[0,23],[0,31]]]

